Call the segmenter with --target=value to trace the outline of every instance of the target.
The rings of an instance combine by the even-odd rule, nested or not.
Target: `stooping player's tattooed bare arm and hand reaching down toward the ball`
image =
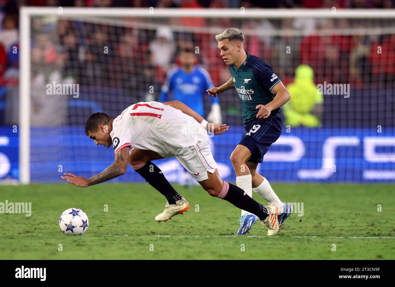
[[[115,155],[113,164],[100,172],[100,174],[96,174],[95,176],[89,177],[88,179],[82,176],[75,176],[74,174],[70,173],[65,173],[65,176],[61,177],[73,185],[79,187],[88,187],[90,185],[95,185],[113,179],[114,177],[121,176],[122,174],[125,174],[126,170],[128,169],[129,149],[130,146],[120,149],[120,151]]]

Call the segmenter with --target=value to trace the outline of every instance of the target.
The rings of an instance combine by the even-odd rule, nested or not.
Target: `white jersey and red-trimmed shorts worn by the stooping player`
[[[218,126],[220,134],[229,127]],[[160,102],[141,102],[113,121],[110,133],[115,154],[126,146],[176,157],[196,181],[208,178],[217,164],[210,151],[207,131],[189,115]]]

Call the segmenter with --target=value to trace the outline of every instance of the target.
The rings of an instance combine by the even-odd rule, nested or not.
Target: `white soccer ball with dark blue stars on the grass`
[[[88,225],[87,214],[79,208],[69,208],[60,215],[59,227],[66,235],[82,235],[87,231]]]

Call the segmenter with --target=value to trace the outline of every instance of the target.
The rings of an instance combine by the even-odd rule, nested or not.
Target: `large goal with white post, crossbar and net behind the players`
[[[8,91],[6,119],[19,116],[19,179],[90,177],[113,162],[94,146],[85,122],[96,111],[116,117],[127,106],[158,100],[167,73],[192,48],[214,86],[230,78],[215,35],[245,35],[291,92],[282,136],[258,170],[271,181],[395,181],[395,13],[305,9],[22,8],[20,89]],[[173,94],[169,93],[169,100]],[[244,132],[237,91],[220,95],[227,133],[210,138],[224,180]],[[204,113],[211,97],[203,96]],[[193,107],[191,107],[193,108]],[[170,181],[174,159],[158,165]],[[142,181],[128,172],[114,181]]]

